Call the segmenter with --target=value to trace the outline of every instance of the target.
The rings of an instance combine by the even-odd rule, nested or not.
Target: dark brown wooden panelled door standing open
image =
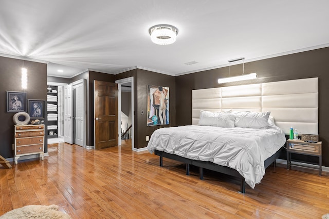
[[[95,149],[118,145],[118,85],[94,81]]]

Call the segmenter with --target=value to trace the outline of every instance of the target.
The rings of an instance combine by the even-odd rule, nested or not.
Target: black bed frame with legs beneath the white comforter
[[[273,154],[272,156],[268,157],[265,160],[265,162],[264,162],[265,169],[271,164],[276,165],[276,159],[279,158],[279,156],[281,154],[281,151],[282,151],[282,148],[280,150],[278,150],[275,154]],[[213,170],[213,171],[216,171],[216,172],[220,172],[220,173],[224,173],[224,174],[227,174],[227,175],[239,177],[241,179],[240,191],[239,192],[240,193],[245,193],[246,192],[245,178],[242,177],[240,175],[240,173],[237,172],[235,169],[225,167],[225,166],[221,166],[221,165],[217,165],[217,164],[214,164],[212,162],[195,161],[195,160],[191,160],[189,158],[181,157],[181,156],[178,156],[178,155],[175,155],[175,154],[170,154],[170,153],[163,152],[163,151],[158,151],[158,150],[155,150],[154,154],[160,156],[160,167],[162,167],[162,164],[163,164],[162,163],[162,157],[170,158],[172,160],[185,163],[186,164],[186,175],[190,174],[190,165],[199,167],[199,169],[200,169],[200,171],[199,171],[200,180],[203,180],[203,178],[204,178],[203,168],[208,169],[208,170]]]

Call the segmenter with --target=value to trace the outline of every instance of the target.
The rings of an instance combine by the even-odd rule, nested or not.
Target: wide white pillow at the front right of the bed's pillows
[[[234,112],[235,114],[235,127],[241,128],[254,128],[254,129],[267,129],[268,117],[271,112]]]

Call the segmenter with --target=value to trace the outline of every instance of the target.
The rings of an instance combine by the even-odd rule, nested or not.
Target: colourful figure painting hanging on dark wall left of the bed
[[[148,85],[147,126],[169,125],[169,87]]]

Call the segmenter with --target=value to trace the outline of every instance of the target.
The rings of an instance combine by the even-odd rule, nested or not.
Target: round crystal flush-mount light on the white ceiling
[[[151,40],[158,45],[169,45],[176,41],[178,29],[172,25],[159,24],[149,29]]]

